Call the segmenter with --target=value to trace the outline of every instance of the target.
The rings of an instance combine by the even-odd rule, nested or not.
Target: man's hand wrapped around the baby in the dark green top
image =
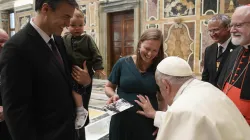
[[[71,75],[73,79],[80,85],[86,86],[91,83],[86,61],[83,62],[83,69],[78,66],[73,66]]]

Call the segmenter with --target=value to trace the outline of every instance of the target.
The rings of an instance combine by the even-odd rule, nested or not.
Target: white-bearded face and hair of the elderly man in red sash
[[[232,16],[231,34],[232,43],[243,46],[250,43],[250,14],[242,14],[242,10],[236,10]]]

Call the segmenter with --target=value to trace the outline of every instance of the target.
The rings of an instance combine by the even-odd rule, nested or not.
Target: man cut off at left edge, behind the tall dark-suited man
[[[8,39],[9,39],[8,34],[3,29],[0,28],[0,52],[2,50],[4,43]],[[1,82],[0,82],[0,93],[1,93]],[[1,95],[0,95],[0,140],[11,140],[10,133],[4,121]]]

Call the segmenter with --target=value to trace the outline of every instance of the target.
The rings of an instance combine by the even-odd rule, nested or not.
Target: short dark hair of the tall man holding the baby
[[[52,10],[56,10],[58,4],[61,2],[66,2],[76,8],[78,7],[76,0],[36,0],[35,11],[40,11],[44,3],[47,3]]]

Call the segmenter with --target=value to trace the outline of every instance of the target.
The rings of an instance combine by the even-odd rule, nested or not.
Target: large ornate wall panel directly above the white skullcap
[[[195,22],[164,25],[164,53],[184,58],[193,69]]]

